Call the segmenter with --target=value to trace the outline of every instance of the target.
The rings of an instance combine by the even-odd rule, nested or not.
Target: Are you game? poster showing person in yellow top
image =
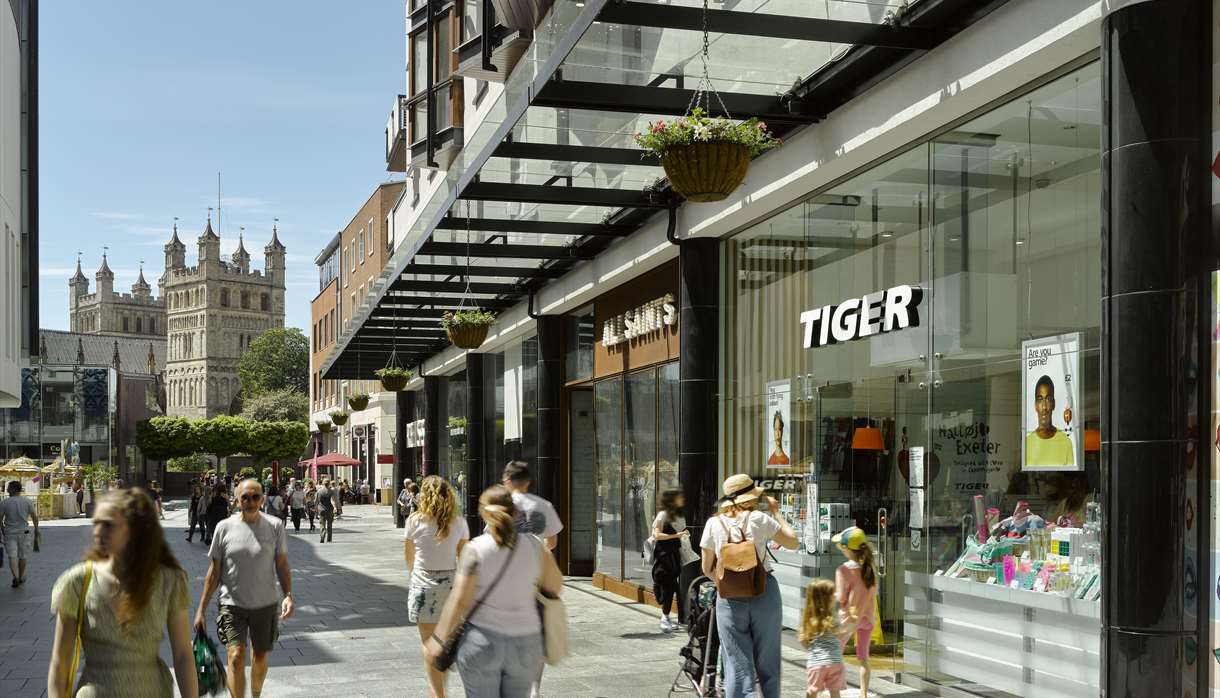
[[[1085,470],[1080,333],[1021,343],[1021,470]]]

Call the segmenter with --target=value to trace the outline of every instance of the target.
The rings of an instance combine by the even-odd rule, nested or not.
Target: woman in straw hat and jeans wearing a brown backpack
[[[797,549],[797,534],[776,517],[780,504],[748,475],[725,480],[727,508],[704,524],[703,572],[716,582],[716,628],[725,658],[725,697],[780,696],[780,638],[783,604],[766,545]],[[756,675],[756,676],[755,676]]]

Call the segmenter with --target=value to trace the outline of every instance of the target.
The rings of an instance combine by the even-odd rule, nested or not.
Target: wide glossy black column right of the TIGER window
[[[1200,351],[1208,276],[1209,2],[1103,20],[1102,686],[1199,696],[1207,666],[1208,469]],[[1204,430],[1207,431],[1207,430]]]

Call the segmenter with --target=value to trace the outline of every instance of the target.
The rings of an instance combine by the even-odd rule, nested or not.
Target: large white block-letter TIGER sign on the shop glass
[[[800,314],[804,348],[919,327],[919,306],[922,301],[922,288],[903,284],[849,298],[838,305],[806,310]]]

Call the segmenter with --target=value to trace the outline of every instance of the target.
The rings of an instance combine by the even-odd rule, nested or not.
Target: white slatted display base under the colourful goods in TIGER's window
[[[1098,694],[1100,602],[905,574],[908,664],[1015,696]]]

